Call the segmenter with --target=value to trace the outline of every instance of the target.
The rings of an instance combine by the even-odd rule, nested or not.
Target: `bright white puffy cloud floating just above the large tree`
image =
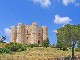
[[[60,17],[59,15],[55,15],[54,23],[56,24],[68,24],[72,21],[69,17]]]

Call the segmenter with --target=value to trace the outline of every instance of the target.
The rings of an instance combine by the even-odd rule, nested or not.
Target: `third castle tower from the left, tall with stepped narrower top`
[[[32,23],[32,32],[31,32],[31,44],[37,43],[38,33],[37,33],[37,23]]]

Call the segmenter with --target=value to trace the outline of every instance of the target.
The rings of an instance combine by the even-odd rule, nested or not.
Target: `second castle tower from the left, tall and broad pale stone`
[[[23,23],[18,23],[17,26],[17,43],[24,43],[25,40],[25,25]]]

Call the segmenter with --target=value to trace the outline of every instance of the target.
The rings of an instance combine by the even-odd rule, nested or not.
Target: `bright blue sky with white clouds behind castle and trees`
[[[9,42],[10,27],[19,22],[47,26],[50,43],[56,44],[58,28],[80,24],[80,0],[0,0],[0,37]]]

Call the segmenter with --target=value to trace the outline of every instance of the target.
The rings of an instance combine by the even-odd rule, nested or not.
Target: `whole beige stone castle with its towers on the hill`
[[[11,42],[38,44],[47,38],[47,27],[39,27],[36,22],[32,23],[32,25],[18,23],[18,26],[12,26]]]

